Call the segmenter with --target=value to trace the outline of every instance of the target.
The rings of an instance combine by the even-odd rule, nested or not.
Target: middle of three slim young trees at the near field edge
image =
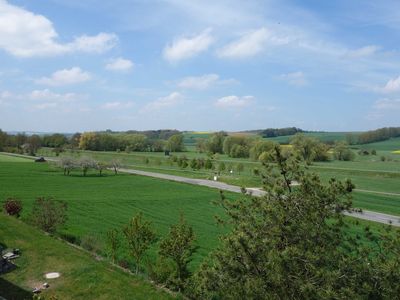
[[[156,235],[149,221],[143,220],[142,213],[134,216],[123,229],[131,256],[135,260],[136,274],[139,273],[143,255],[156,241]]]

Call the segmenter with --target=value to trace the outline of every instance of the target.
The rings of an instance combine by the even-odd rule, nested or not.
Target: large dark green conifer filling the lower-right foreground
[[[264,197],[220,205],[232,231],[195,275],[201,299],[394,299],[400,293],[400,231],[349,234],[350,181],[321,183],[275,148]],[[297,181],[297,188],[291,182]],[[375,243],[366,244],[365,240]]]

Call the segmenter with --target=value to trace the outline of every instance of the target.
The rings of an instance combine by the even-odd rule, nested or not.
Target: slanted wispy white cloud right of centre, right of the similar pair
[[[217,50],[217,55],[219,57],[227,58],[244,58],[254,56],[262,52],[267,42],[271,45],[283,45],[287,44],[288,40],[286,38],[279,38],[272,34],[271,31],[267,30],[265,27],[248,32],[242,35],[236,41],[231,42],[225,47]]]

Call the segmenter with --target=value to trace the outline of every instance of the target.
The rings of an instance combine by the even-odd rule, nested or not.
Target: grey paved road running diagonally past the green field
[[[207,186],[210,188],[216,188],[216,189],[234,192],[234,193],[241,193],[240,187],[235,186],[235,185],[226,184],[226,183],[219,182],[219,181],[187,178],[187,177],[182,177],[182,176],[140,171],[140,170],[134,170],[134,169],[120,169],[120,172],[136,174],[136,175],[141,175],[141,176],[155,177],[155,178],[172,180],[172,181],[183,182],[183,183],[194,184],[194,185]],[[246,190],[248,193],[251,193],[254,196],[262,196],[265,193],[263,190],[261,190],[259,188],[246,188]],[[373,211],[368,211],[368,210],[363,210],[362,212],[352,212],[352,213],[345,212],[344,214],[347,216],[351,216],[354,218],[363,219],[363,220],[367,220],[367,221],[373,221],[373,222],[384,223],[384,224],[391,223],[393,226],[400,227],[400,217],[399,216],[393,216],[393,215],[388,215],[388,214],[383,214],[383,213],[378,213],[378,212],[373,212]]]

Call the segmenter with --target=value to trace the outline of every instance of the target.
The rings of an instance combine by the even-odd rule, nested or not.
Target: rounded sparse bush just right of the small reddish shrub
[[[39,197],[33,203],[31,221],[40,229],[54,233],[67,221],[67,203],[51,197]]]

